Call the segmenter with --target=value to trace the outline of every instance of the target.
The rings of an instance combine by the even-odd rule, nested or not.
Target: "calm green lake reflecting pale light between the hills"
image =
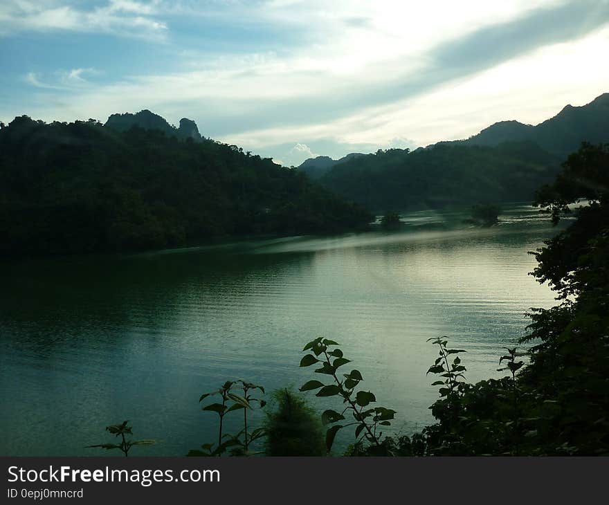
[[[201,393],[244,378],[269,397],[324,378],[298,367],[321,335],[353,361],[345,372],[359,369],[364,389],[398,411],[394,432],[419,430],[437,398],[428,338],[466,349],[468,380],[499,377],[502,348],[526,334],[524,313],[554,304],[528,275],[527,251],[556,230],[527,205],[500,219],[480,229],[458,213],[412,212],[392,233],[3,261],[0,455],[109,454],[84,446],[113,441],[104,427],[125,419],[136,439],[161,440],[132,455],[185,455],[217,436]]]

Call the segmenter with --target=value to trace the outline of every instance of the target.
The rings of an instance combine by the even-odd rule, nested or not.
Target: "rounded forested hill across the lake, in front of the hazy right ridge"
[[[427,149],[379,150],[332,167],[320,183],[376,212],[531,201],[552,181],[561,159],[535,143],[498,147],[437,144]]]

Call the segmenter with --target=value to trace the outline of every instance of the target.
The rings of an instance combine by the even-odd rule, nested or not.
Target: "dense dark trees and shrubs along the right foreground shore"
[[[530,362],[507,349],[510,376],[459,383],[432,405],[432,455],[609,455],[609,146],[583,144],[537,204],[570,226],[534,252],[559,304],[533,309]],[[588,200],[577,210],[570,205]],[[439,370],[438,370],[439,371]],[[448,378],[447,378],[448,380]],[[441,393],[442,394],[442,393]],[[448,397],[452,396],[452,401]]]

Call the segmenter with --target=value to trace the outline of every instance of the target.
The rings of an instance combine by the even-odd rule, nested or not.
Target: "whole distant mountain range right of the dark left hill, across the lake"
[[[298,169],[329,190],[370,208],[408,210],[475,201],[530,201],[582,141],[609,142],[609,93],[567,105],[539,125],[502,121],[466,140],[410,152],[309,158]]]

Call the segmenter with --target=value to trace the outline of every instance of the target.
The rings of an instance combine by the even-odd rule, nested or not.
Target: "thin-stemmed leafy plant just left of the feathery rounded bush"
[[[243,394],[237,394],[235,389],[240,389]],[[264,436],[263,428],[256,428],[252,432],[248,432],[247,411],[252,409],[252,403],[256,402],[260,408],[266,405],[266,401],[253,397],[250,392],[260,389],[264,394],[264,387],[246,382],[245,380],[227,380],[219,389],[201,394],[199,403],[209,396],[220,395],[221,403],[210,403],[205,405],[202,410],[206,412],[215,412],[217,414],[218,423],[218,441],[214,447],[213,443],[204,443],[201,446],[202,450],[190,450],[188,456],[221,456],[228,450],[233,456],[250,455],[249,445]],[[230,412],[238,410],[244,411],[244,428],[237,434],[224,433],[224,417]],[[241,439],[243,437],[243,440]]]

